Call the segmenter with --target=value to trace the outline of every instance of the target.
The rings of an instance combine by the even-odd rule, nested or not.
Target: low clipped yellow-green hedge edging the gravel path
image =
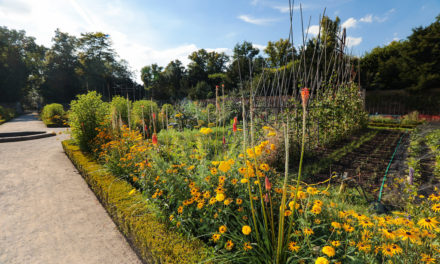
[[[212,251],[201,241],[188,240],[169,230],[148,203],[126,181],[107,172],[80,151],[72,140],[62,142],[67,156],[83,175],[108,214],[145,263],[205,263]]]

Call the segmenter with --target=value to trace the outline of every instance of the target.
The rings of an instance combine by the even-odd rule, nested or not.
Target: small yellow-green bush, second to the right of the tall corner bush
[[[142,116],[144,117],[145,125],[149,128],[150,132],[153,131],[153,113],[156,115],[159,112],[157,104],[150,100],[139,100],[133,103],[132,110],[132,124],[135,127],[142,128]],[[156,116],[157,117],[157,116]],[[156,129],[158,129],[158,122],[156,118]]]

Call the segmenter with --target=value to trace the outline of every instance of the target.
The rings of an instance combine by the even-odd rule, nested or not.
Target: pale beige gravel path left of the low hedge
[[[1,132],[46,128],[28,114]],[[66,134],[0,143],[0,263],[141,263],[61,147]]]

